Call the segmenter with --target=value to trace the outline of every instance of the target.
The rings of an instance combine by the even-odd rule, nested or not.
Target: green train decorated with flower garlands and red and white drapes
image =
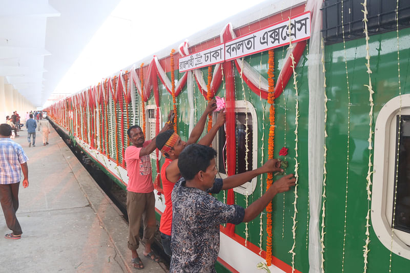
[[[187,140],[207,100],[224,98],[220,177],[273,154],[298,180],[252,222],[221,226],[218,272],[405,272],[409,17],[404,1],[265,2],[45,111],[125,189],[130,125],[151,139],[175,106]],[[164,158],[151,158],[160,217]],[[270,183],[262,175],[215,197],[246,207]]]

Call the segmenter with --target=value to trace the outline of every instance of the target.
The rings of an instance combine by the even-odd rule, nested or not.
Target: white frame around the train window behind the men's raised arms
[[[249,171],[254,170],[258,167],[258,119],[257,119],[257,115],[256,115],[256,110],[254,108],[254,106],[252,105],[252,103],[248,100],[236,100],[235,101],[235,113],[247,113],[251,115],[252,117],[252,162],[250,162],[250,166],[249,166]],[[216,113],[214,113],[213,115],[213,121],[216,121]],[[224,130],[223,127],[221,127],[219,130]],[[215,150],[217,150],[217,153],[219,155],[219,153],[221,151],[219,151],[219,133],[216,134],[214,140],[212,141],[212,146],[215,148]],[[219,157],[216,157],[216,165],[219,166]],[[224,173],[220,173],[218,170],[218,177],[221,177],[222,179],[227,178],[228,176]],[[256,188],[256,184],[257,184],[257,177],[254,177],[253,179],[251,179],[251,181],[248,181],[246,183],[244,183],[241,186],[235,187],[234,191],[242,194],[242,195],[251,195]]]

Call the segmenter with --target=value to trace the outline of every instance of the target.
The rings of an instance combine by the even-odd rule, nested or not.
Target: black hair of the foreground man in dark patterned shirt
[[[199,171],[205,172],[207,170],[215,156],[216,151],[210,146],[201,144],[186,146],[178,158],[181,176],[186,180],[192,180]]]

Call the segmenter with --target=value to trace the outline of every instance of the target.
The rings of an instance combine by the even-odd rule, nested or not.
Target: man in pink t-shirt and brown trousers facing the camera
[[[172,128],[170,121],[172,118],[173,115],[170,114],[168,116],[168,122],[160,133]],[[156,220],[150,154],[155,150],[156,146],[155,137],[145,141],[144,133],[138,125],[131,126],[127,134],[132,143],[125,151],[129,177],[127,187],[127,213],[129,221],[128,248],[132,252],[132,265],[137,269],[142,269],[144,268],[144,264],[142,264],[137,253],[141,218],[144,221],[144,237],[142,238],[142,241],[145,243],[144,256],[154,262],[159,262],[159,257],[151,250]]]

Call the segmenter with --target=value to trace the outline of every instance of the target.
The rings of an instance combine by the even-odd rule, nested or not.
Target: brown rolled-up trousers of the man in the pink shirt
[[[138,249],[141,219],[144,222],[142,241],[151,244],[156,228],[154,192],[148,194],[127,192],[127,214],[129,222],[128,248],[130,250]]]

